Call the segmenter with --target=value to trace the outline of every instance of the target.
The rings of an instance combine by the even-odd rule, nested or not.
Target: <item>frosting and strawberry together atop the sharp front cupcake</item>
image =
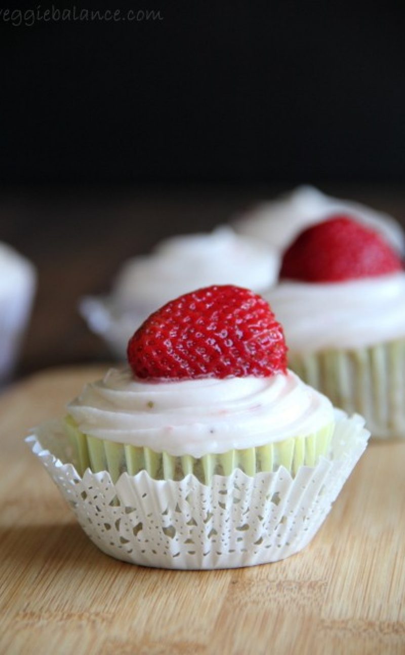
[[[128,344],[130,367],[88,384],[69,414],[86,434],[177,456],[307,436],[333,409],[286,369],[286,350],[260,296],[198,290],[152,314]]]

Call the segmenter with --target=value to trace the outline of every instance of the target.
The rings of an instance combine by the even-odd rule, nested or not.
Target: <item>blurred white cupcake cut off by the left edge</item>
[[[33,265],[0,243],[0,384],[9,379],[18,361],[36,285]]]

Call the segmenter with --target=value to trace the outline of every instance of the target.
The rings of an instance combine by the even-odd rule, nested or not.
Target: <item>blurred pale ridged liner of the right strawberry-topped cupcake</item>
[[[405,339],[309,354],[290,351],[289,367],[336,407],[361,413],[373,437],[405,438]]]

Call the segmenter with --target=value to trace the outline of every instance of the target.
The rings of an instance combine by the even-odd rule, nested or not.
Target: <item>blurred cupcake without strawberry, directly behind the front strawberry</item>
[[[279,255],[229,227],[174,236],[150,255],[124,263],[106,297],[86,297],[80,312],[120,359],[138,326],[171,298],[210,284],[235,284],[258,293],[277,280]]]

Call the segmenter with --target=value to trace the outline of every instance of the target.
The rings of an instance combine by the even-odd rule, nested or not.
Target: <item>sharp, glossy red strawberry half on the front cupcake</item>
[[[164,305],[128,343],[139,378],[269,377],[286,373],[283,328],[266,301],[236,286],[211,286]]]

